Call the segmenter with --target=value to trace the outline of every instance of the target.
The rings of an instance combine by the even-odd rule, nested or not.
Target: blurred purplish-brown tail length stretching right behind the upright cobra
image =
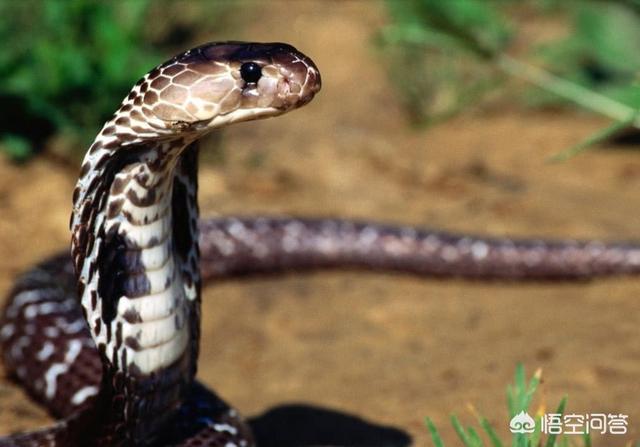
[[[344,219],[201,221],[205,278],[353,267],[469,279],[587,279],[640,272],[632,242],[510,239]]]

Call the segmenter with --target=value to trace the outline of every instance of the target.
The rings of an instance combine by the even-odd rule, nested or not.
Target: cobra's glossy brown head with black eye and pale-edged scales
[[[154,127],[178,133],[281,115],[320,86],[316,65],[291,45],[209,43],[151,71],[129,100]]]

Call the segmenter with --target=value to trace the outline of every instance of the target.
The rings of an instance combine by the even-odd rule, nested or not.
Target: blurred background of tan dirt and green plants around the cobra
[[[0,39],[3,292],[67,246],[79,162],[133,83],[212,40],[291,43],[323,90],[204,142],[205,216],[640,238],[636,0],[0,0]],[[629,434],[593,440],[628,445],[640,438],[639,291],[633,278],[228,281],[205,292],[200,377],[248,415],[303,402],[415,445],[430,445],[428,416],[456,445],[451,413],[465,425],[482,414],[508,439],[505,389],[522,362],[543,369],[532,414],[567,394],[570,413],[629,415]],[[2,379],[3,433],[45,421]]]

